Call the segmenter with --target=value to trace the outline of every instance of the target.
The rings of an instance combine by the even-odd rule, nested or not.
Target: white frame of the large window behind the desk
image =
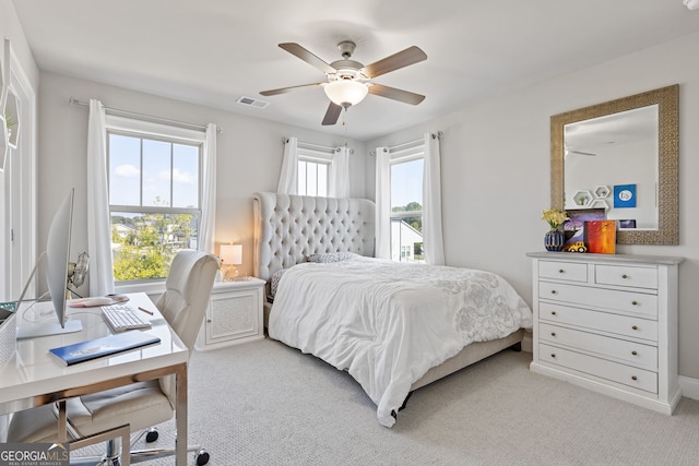
[[[109,159],[110,159],[110,136],[111,134],[125,135],[139,138],[141,140],[141,154],[140,154],[140,168],[141,176],[143,169],[143,140],[152,140],[152,141],[161,141],[170,144],[170,157],[173,157],[171,145],[173,144],[183,144],[191,145],[198,147],[198,192],[197,192],[197,203],[198,207],[163,207],[163,206],[154,206],[154,205],[121,205],[121,204],[112,204],[111,199],[109,199],[109,216],[111,217],[112,213],[127,213],[127,214],[167,214],[167,215],[194,215],[197,217],[197,241],[201,241],[199,232],[201,231],[201,219],[203,216],[203,178],[204,178],[204,151],[205,151],[205,141],[206,133],[204,130],[193,130],[189,128],[182,128],[178,126],[170,126],[158,123],[154,121],[146,121],[135,118],[128,118],[118,115],[106,115],[105,116],[105,132],[106,132],[106,144],[107,144],[107,183],[110,181],[110,171],[109,171]],[[171,183],[174,167],[170,165],[170,199],[173,200],[173,189],[174,186]],[[140,202],[143,204],[143,183],[140,183]],[[109,186],[107,187],[107,193],[109,195]],[[161,285],[164,283],[166,277],[158,278],[138,278],[131,280],[118,280],[115,278],[115,285],[119,288],[120,291],[126,292],[132,286],[142,286],[142,285]]]

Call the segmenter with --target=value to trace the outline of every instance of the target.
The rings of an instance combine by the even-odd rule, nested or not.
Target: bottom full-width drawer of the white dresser
[[[584,372],[649,393],[657,393],[657,373],[555,346],[538,345],[542,361]]]

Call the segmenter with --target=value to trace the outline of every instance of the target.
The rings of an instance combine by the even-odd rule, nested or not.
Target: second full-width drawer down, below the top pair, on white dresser
[[[541,302],[538,319],[542,323],[574,325],[605,334],[629,336],[657,342],[657,322],[629,315],[591,311],[570,306]]]

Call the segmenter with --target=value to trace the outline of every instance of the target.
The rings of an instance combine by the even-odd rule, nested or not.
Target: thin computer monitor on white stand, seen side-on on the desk
[[[82,330],[82,323],[79,320],[68,320],[66,315],[74,192],[75,189],[71,188],[70,192],[56,211],[54,220],[51,222],[51,226],[48,230],[48,239],[46,242],[46,283],[48,285],[48,291],[51,295],[56,320],[38,319],[31,324],[19,326],[17,339],[80,332]],[[42,258],[39,258],[39,261]],[[32,276],[33,275],[34,272],[32,272]],[[32,276],[29,276],[29,280],[32,279]],[[22,301],[24,291],[22,295],[23,296],[20,297],[19,302]]]

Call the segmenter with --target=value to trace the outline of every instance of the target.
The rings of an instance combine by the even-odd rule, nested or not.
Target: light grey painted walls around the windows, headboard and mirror
[[[1,4],[10,4],[0,0]],[[688,36],[578,73],[511,92],[479,105],[405,129],[369,143],[351,142],[352,194],[374,195],[374,157],[378,145],[413,141],[426,131],[443,132],[442,200],[446,255],[450,265],[482,267],[509,279],[531,302],[528,251],[541,251],[546,225],[541,211],[549,202],[549,117],[639,92],[680,84],[680,246],[619,246],[618,252],[682,255],[679,279],[679,373],[699,379],[699,218],[694,202],[699,186],[699,35]],[[76,186],[74,250],[84,244],[84,153],[87,109],[68,104],[99,98],[107,106],[205,123],[225,132],[218,139],[216,239],[244,243],[251,270],[251,201],[259,190],[276,186],[283,135],[325,145],[332,136],[291,126],[250,119],[108,85],[43,73],[39,140],[39,243],[46,240],[48,218],[69,186]],[[429,96],[428,96],[429,98]],[[362,160],[366,155],[366,163]],[[362,176],[364,175],[364,177]]]

